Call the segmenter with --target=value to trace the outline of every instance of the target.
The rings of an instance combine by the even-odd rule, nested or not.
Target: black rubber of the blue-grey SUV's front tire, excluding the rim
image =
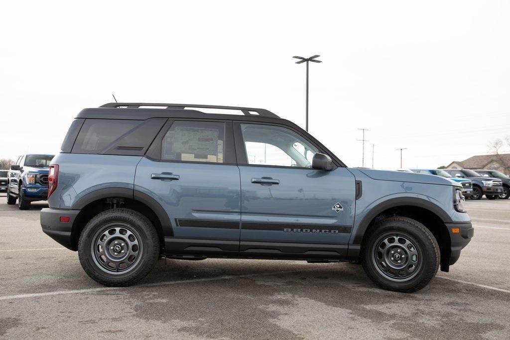
[[[439,245],[432,233],[421,223],[406,218],[388,218],[374,227],[362,247],[362,263],[367,275],[379,286],[391,291],[414,292],[428,284],[436,275],[440,263]],[[408,281],[392,281],[382,276],[374,264],[372,247],[382,234],[388,232],[409,235],[421,249],[422,264],[419,273]]]

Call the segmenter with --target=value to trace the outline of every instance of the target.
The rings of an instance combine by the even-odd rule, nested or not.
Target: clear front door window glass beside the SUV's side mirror
[[[319,150],[292,130],[273,125],[241,124],[248,164],[311,168]]]

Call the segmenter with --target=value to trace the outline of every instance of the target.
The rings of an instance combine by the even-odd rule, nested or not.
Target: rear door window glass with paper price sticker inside
[[[223,163],[225,123],[175,121],[161,145],[165,161]]]

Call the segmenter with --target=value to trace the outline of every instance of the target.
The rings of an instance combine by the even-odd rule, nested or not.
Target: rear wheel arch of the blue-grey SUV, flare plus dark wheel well
[[[81,232],[88,221],[114,207],[131,209],[147,217],[158,232],[161,247],[165,236],[173,236],[170,218],[156,199],[133,189],[105,188],[88,193],[72,205],[72,210],[80,210],[71,228],[73,250],[78,249]]]

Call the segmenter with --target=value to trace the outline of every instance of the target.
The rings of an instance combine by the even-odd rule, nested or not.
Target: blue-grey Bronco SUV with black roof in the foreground
[[[361,261],[381,287],[413,292],[473,236],[460,185],[348,168],[296,124],[253,108],[84,109],[50,164],[48,204],[43,231],[113,286],[142,279],[159,256],[220,257]]]

